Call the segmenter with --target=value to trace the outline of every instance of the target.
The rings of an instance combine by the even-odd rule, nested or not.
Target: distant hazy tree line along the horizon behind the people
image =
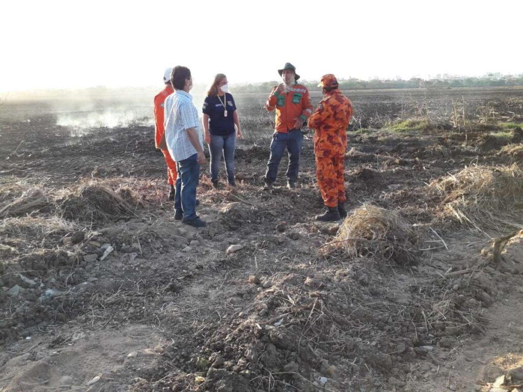
[[[234,85],[234,93],[266,93],[279,81],[272,80],[264,83],[249,83]],[[302,83],[311,91],[319,91],[318,82],[303,80]],[[499,87],[523,86],[523,74],[507,77],[460,77],[450,79],[420,79],[409,80],[360,80],[356,78],[340,79],[339,86],[342,90],[370,90],[390,88],[454,88],[454,87]]]

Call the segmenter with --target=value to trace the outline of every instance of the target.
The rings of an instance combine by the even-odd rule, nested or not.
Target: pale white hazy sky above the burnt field
[[[135,4],[138,3],[138,4]],[[0,91],[195,83],[523,73],[520,0],[14,1],[0,7]]]

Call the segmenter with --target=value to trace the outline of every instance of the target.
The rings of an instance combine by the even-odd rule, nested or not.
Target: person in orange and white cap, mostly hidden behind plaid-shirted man
[[[167,164],[167,182],[170,186],[169,190],[169,201],[174,201],[174,186],[176,184],[177,172],[176,172],[176,162],[173,158],[170,157],[167,148],[160,148],[160,142],[162,136],[165,132],[164,128],[164,101],[169,95],[174,93],[174,88],[170,83],[170,72],[172,68],[167,68],[164,72],[164,83],[165,88],[160,91],[156,97],[154,97],[154,128],[155,128],[155,137],[154,143],[156,148],[160,149],[165,157],[165,163]]]

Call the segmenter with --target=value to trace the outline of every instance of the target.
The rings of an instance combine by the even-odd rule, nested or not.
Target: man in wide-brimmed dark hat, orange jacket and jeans
[[[311,116],[312,103],[309,90],[299,84],[300,75],[291,63],[286,63],[278,73],[283,83],[272,89],[270,97],[265,102],[268,111],[276,109],[276,126],[272,142],[270,143],[270,158],[265,173],[265,190],[272,188],[276,180],[278,165],[287,147],[289,166],[287,168],[287,187],[295,188],[300,167],[301,146],[303,133],[301,127]]]

